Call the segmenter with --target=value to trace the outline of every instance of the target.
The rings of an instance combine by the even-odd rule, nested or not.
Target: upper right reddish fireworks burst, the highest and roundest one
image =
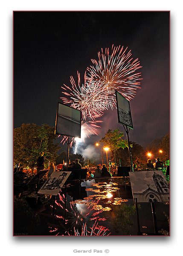
[[[118,90],[126,99],[134,97],[136,90],[140,85],[141,73],[135,73],[141,68],[138,58],[133,61],[131,50],[126,54],[127,48],[112,46],[112,53],[109,48],[98,52],[99,61],[91,59],[93,66],[87,68],[90,79],[102,83],[105,90],[113,91],[115,99],[115,90]]]

